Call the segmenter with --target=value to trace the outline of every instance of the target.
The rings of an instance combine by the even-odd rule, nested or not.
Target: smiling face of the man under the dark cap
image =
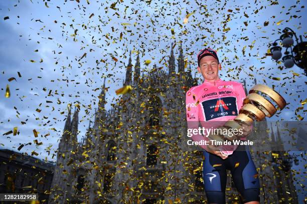
[[[198,72],[200,72],[206,81],[213,82],[219,79],[219,68],[221,64],[218,60],[211,55],[204,56],[199,62],[197,67]]]

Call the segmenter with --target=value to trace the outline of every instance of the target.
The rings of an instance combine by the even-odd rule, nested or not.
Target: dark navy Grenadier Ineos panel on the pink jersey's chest
[[[202,106],[207,121],[226,115],[238,115],[236,98],[232,96],[205,100]]]

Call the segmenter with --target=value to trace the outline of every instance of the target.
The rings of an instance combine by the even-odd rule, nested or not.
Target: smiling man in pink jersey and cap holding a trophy
[[[190,88],[186,93],[188,129],[216,128],[239,114],[246,97],[241,83],[224,81],[219,78],[221,64],[215,50],[205,48],[197,55],[198,71],[204,82]],[[244,125],[241,139],[245,140],[251,127]],[[208,140],[206,135],[192,135],[194,141]],[[200,145],[204,149],[203,181],[209,203],[225,203],[227,173],[240,193],[243,203],[259,203],[259,179],[247,145],[226,149],[212,145]],[[221,149],[222,148],[222,149]]]

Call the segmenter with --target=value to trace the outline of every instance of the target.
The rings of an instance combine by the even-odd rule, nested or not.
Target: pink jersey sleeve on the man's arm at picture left
[[[186,93],[186,113],[187,113],[187,123],[188,123],[188,131],[189,129],[198,129],[199,128],[199,108],[200,104],[197,101],[196,94],[190,89]],[[207,137],[203,136],[202,134],[193,134],[192,139],[194,141],[201,141],[201,140],[208,140]],[[205,150],[208,149],[207,145],[200,145]]]

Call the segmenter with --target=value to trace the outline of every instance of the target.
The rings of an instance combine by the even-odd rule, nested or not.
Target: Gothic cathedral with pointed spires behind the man
[[[172,46],[168,72],[154,65],[145,76],[139,55],[132,65],[130,54],[124,85],[130,84],[132,91],[105,110],[103,85],[93,125],[81,142],[78,109],[72,119],[68,112],[49,203],[207,203],[203,154],[182,148],[187,137],[185,93],[197,80],[185,70],[182,47],[177,61],[176,72]],[[269,125],[254,128],[262,128],[276,145],[281,142],[279,132],[266,131]],[[281,153],[282,162],[276,162],[258,144],[250,151],[260,179],[260,202],[297,203],[288,158]],[[230,172],[226,200],[241,203]]]

